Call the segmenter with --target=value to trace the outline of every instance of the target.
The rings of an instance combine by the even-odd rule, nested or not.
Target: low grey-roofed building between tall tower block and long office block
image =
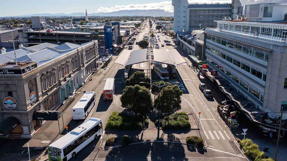
[[[202,58],[204,45],[204,31],[203,30],[189,30],[179,35],[179,45],[190,56],[195,56],[197,59]]]

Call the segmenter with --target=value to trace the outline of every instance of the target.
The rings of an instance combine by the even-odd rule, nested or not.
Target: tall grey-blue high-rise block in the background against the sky
[[[224,17],[236,18],[242,16],[241,3],[232,0],[228,4],[189,4],[187,0],[172,0],[174,6],[174,32],[181,34],[188,30],[201,28],[216,28],[214,20]]]

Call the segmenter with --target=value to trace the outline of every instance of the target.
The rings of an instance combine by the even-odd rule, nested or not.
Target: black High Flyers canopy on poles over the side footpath
[[[63,115],[62,111],[35,111],[33,120],[58,120]]]

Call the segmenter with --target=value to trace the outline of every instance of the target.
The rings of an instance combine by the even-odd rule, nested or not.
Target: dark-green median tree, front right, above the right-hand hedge
[[[154,100],[154,106],[168,119],[171,114],[181,109],[182,94],[183,91],[177,85],[168,85],[160,91]]]

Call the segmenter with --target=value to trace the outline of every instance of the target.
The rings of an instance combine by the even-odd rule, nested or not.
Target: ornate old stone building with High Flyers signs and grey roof
[[[35,111],[57,110],[98,68],[98,42],[44,43],[0,54],[0,136],[31,138],[44,120]],[[12,58],[9,58],[11,57]],[[13,125],[11,127],[5,125]]]

